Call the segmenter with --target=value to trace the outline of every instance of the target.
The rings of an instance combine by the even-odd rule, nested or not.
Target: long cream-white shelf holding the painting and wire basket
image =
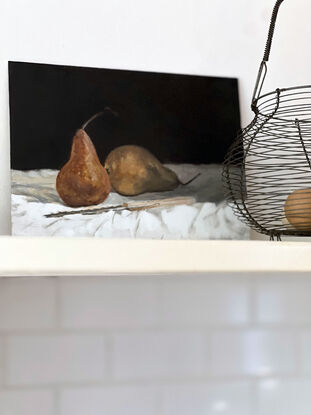
[[[311,272],[310,242],[0,237],[0,276]]]

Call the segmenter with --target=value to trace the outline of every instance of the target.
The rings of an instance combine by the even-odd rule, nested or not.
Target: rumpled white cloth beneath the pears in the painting
[[[221,166],[168,165],[182,182],[201,175],[174,191],[124,197],[111,192],[104,203],[92,208],[135,201],[193,196],[195,203],[141,211],[108,211],[93,215],[45,215],[77,209],[59,198],[55,170],[12,171],[12,226],[14,235],[96,236],[152,239],[247,239],[249,232],[223,201]],[[208,200],[208,201],[207,201]],[[84,208],[89,209],[89,208]]]

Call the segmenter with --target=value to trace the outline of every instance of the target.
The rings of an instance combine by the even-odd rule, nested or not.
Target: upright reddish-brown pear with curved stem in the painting
[[[97,205],[110,192],[107,171],[83,129],[79,129],[73,138],[70,159],[58,173],[56,189],[71,207]]]

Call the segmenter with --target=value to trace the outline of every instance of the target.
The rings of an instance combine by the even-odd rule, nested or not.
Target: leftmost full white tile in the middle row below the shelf
[[[6,348],[8,385],[105,379],[105,344],[101,334],[9,336]]]

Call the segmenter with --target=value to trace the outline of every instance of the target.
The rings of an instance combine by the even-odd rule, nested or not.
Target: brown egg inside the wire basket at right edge
[[[294,190],[286,199],[284,211],[295,229],[311,231],[311,189]]]

